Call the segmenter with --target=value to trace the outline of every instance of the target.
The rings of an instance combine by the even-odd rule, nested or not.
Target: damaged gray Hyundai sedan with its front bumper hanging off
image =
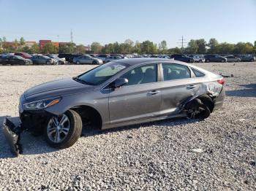
[[[170,59],[112,61],[26,90],[20,96],[20,125],[6,119],[4,133],[18,154],[23,130],[44,134],[51,147],[66,148],[75,144],[82,128],[205,119],[222,106],[224,82],[222,76]]]

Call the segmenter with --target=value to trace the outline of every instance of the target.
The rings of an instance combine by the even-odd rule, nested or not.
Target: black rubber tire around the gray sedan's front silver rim
[[[73,144],[75,144],[76,141],[78,141],[78,138],[82,133],[83,124],[82,124],[80,115],[72,109],[69,109],[64,114],[66,114],[69,119],[70,128],[69,128],[69,132],[67,133],[67,136],[64,138],[63,141],[59,143],[51,141],[48,137],[47,126],[44,129],[45,140],[48,142],[50,147],[54,147],[58,149],[71,147]]]

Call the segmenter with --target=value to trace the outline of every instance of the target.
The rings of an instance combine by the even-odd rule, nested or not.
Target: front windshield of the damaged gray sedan
[[[85,74],[81,74],[76,80],[89,85],[99,85],[107,79],[110,79],[110,77],[113,77],[113,75],[117,74],[119,71],[126,69],[127,66],[128,65],[125,63],[105,63]]]

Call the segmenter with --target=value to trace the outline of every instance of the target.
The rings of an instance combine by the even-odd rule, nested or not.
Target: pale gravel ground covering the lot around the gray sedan
[[[256,63],[198,63],[226,78],[222,109],[81,137],[69,149],[23,133],[12,157],[0,130],[0,190],[256,190]],[[0,122],[27,88],[93,66],[0,66]]]

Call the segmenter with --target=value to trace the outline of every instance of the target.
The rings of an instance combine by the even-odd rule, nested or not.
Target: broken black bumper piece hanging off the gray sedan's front
[[[5,118],[3,122],[3,131],[4,136],[7,139],[8,144],[10,145],[10,149],[18,156],[22,154],[23,149],[20,144],[20,133],[24,130],[22,123],[20,125],[15,125],[14,122],[10,120],[10,118]]]

